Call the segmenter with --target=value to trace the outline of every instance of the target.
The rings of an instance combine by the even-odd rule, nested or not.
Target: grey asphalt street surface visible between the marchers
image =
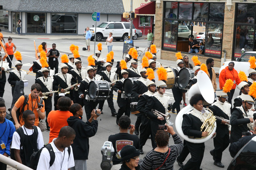
[[[70,52],[69,51],[69,46],[71,44],[74,45],[78,45],[79,49],[82,49],[82,47],[85,47],[84,45],[84,40],[72,40],[72,39],[68,39],[68,40],[51,40],[51,39],[35,39],[36,41],[36,47],[41,44],[41,42],[45,41],[47,42],[47,48],[48,50],[51,48],[51,44],[52,43],[56,43],[57,44],[57,48],[60,51],[65,51],[65,52]],[[35,61],[35,48],[34,48],[34,42],[33,39],[13,39],[12,41],[16,47],[17,50],[21,52],[22,54],[22,70],[25,70],[28,72],[28,69],[32,66],[33,61]],[[102,44],[104,44],[104,41],[101,42]],[[93,51],[93,43],[91,42],[91,51]],[[123,41],[113,41],[113,51],[115,53],[114,59],[115,59],[115,63],[114,65],[116,65],[116,61],[120,60],[122,57],[122,50],[120,50],[121,48],[117,48],[117,47],[122,47],[123,46]],[[141,46],[142,49],[145,48],[146,46],[146,41],[144,40],[136,40],[134,41],[134,46]],[[143,48],[144,47],[144,48]],[[97,46],[96,46],[97,48]],[[119,49],[119,50],[117,50]],[[103,46],[103,51],[105,50],[105,52],[103,52],[103,54],[106,53],[107,48],[105,46]],[[143,51],[143,50],[142,50]],[[79,50],[80,55],[84,55],[84,56],[88,56],[91,55],[93,52],[85,52]],[[1,51],[1,53],[3,54],[3,50]],[[61,54],[63,54],[63,52],[61,52]],[[107,54],[107,53],[106,53]],[[103,55],[106,56],[106,55]],[[81,57],[82,62],[83,62],[83,66],[86,67],[87,66],[87,57]],[[16,61],[16,59],[13,59],[13,62]],[[60,59],[59,59],[60,62]],[[60,70],[60,69],[59,69]],[[7,78],[8,78],[8,74],[7,74]],[[30,72],[28,75],[26,75],[26,79],[28,80],[28,87],[25,87],[24,92],[25,94],[30,93],[30,87],[32,84],[35,83],[35,73]],[[219,83],[218,83],[218,78],[217,78],[217,84],[219,87]],[[170,101],[173,103],[174,99],[173,99],[173,95],[172,95],[172,90],[171,89],[167,89],[166,94],[170,96]],[[238,96],[238,90],[236,89],[235,94],[234,94],[234,98],[236,96]],[[12,93],[11,93],[11,86],[8,82],[6,82],[5,85],[5,92],[4,92],[4,99],[5,99],[5,103],[6,103],[6,107],[10,108],[11,107],[11,102],[12,102]],[[186,93],[186,96],[188,96],[188,93]],[[117,100],[117,93],[114,92],[114,106],[116,108],[116,112],[118,111],[118,106],[116,103]],[[186,97],[186,101],[188,102],[188,97]],[[53,102],[53,100],[52,100]],[[183,103],[183,102],[182,102]],[[182,107],[182,105],[180,105]],[[108,108],[107,102],[105,102],[105,105],[103,107],[103,115],[100,115],[100,117],[98,118],[99,120],[99,126],[98,126],[98,131],[96,133],[96,135],[94,137],[91,137],[89,139],[90,141],[90,152],[89,152],[89,159],[87,160],[87,169],[88,170],[92,170],[92,169],[96,169],[96,170],[100,170],[100,163],[101,163],[101,146],[104,144],[105,141],[108,140],[108,136],[112,135],[112,134],[116,134],[119,132],[119,127],[118,125],[116,125],[116,117],[112,117],[111,116],[111,112],[110,109]],[[85,114],[85,113],[84,113]],[[176,114],[172,114],[170,112],[171,118],[170,120],[172,122],[175,123],[175,118],[176,118]],[[132,124],[135,124],[136,122],[136,115],[131,114],[130,116]],[[83,116],[83,120],[86,121],[86,116]],[[176,130],[175,128],[175,124],[174,124],[174,130]],[[44,131],[43,132],[43,137],[44,137],[44,143],[48,143],[49,140],[49,132]],[[170,138],[169,141],[169,145],[172,145],[173,143],[173,139]],[[212,150],[214,148],[213,146],[213,140],[210,139],[207,142],[205,142],[205,151],[204,151],[204,159],[202,161],[201,167],[203,169],[211,169],[211,170],[219,170],[219,169],[226,169],[230,163],[230,161],[232,160],[229,152],[228,152],[228,148],[223,152],[222,155],[222,163],[225,165],[225,168],[219,168],[215,165],[213,165],[213,159],[212,156],[210,155],[210,150]],[[146,153],[148,151],[150,151],[152,149],[151,147],[151,141],[150,139],[147,141],[146,145],[143,147],[144,150],[144,154],[140,155],[140,159],[143,159],[144,156],[146,155]],[[190,158],[190,155],[187,157],[186,161]],[[186,161],[184,163],[186,163]],[[174,163],[174,169],[179,169],[179,166],[177,164],[177,162]]]

